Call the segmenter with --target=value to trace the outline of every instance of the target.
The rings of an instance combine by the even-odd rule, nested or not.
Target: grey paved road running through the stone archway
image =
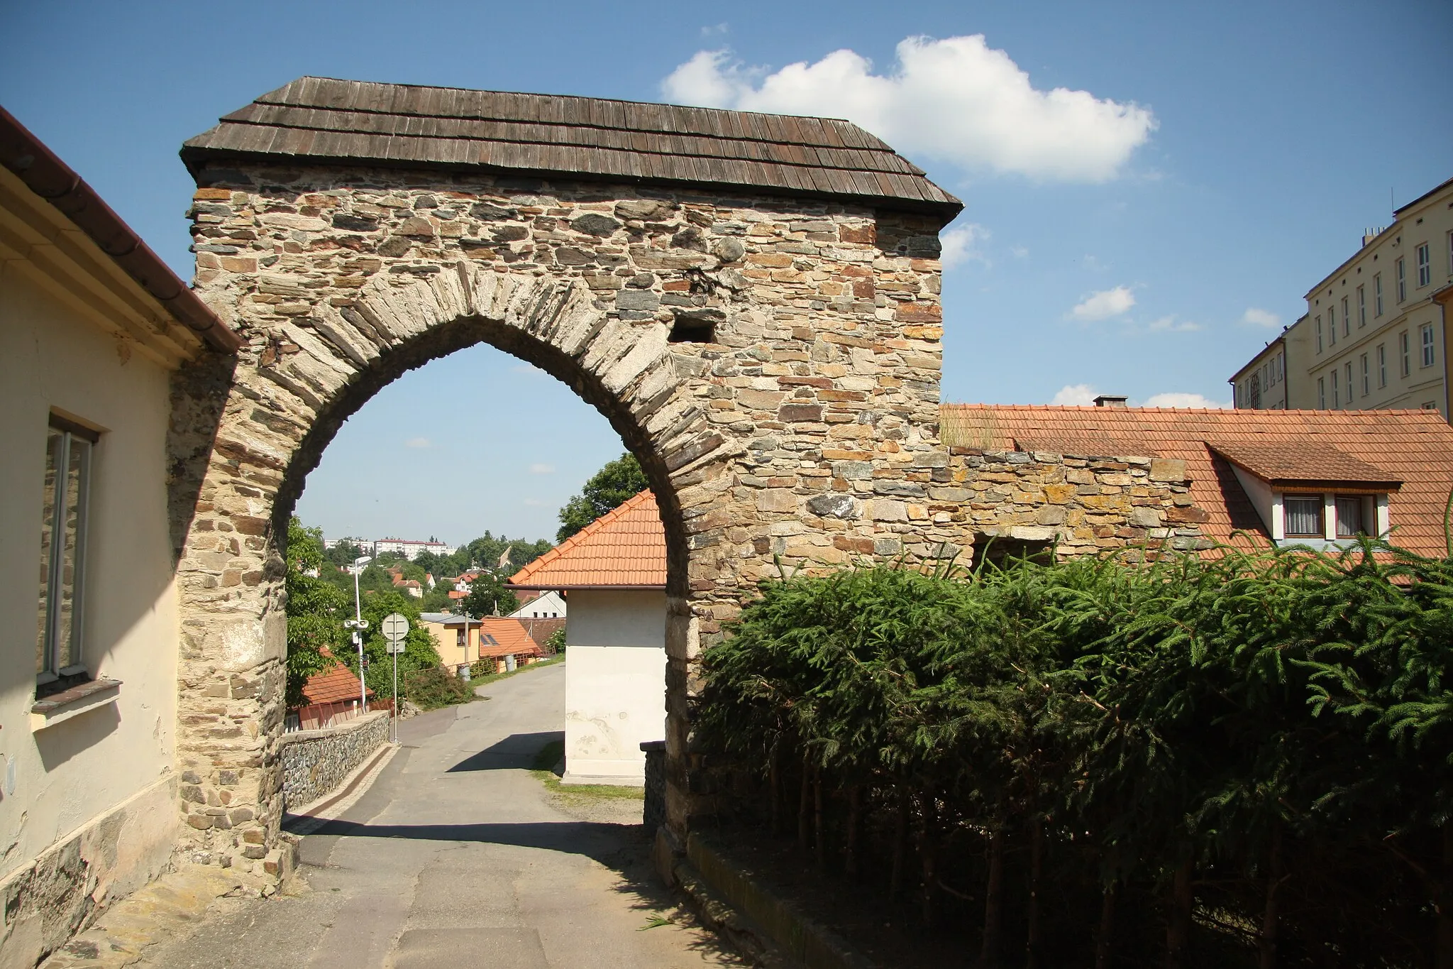
[[[402,750],[368,793],[304,838],[292,891],[225,899],[203,928],[148,950],[141,965],[745,965],[660,888],[638,800],[565,805],[529,773],[541,747],[562,737],[564,665],[481,692],[493,699],[400,725]],[[657,914],[673,924],[645,928]]]

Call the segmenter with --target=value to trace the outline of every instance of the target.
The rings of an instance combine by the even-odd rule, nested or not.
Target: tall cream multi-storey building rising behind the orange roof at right
[[[1231,379],[1238,408],[1437,410],[1449,417],[1453,179],[1363,234],[1306,315]],[[1280,378],[1280,379],[1279,379]]]

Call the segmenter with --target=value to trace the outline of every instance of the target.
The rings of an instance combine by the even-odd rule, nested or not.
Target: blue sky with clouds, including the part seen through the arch
[[[1228,401],[1389,193],[1453,176],[1438,0],[52,0],[3,22],[0,103],[183,277],[177,148],[301,74],[846,113],[966,202],[949,401]],[[331,535],[551,536],[619,452],[568,389],[478,347],[355,415],[299,511]]]

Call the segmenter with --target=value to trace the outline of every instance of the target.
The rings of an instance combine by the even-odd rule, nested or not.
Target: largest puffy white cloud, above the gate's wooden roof
[[[773,73],[726,49],[697,51],[661,92],[705,108],[847,118],[912,155],[1062,182],[1116,177],[1157,128],[1154,113],[1133,102],[1035,89],[982,33],[905,38],[892,71],[872,68],[849,49]]]

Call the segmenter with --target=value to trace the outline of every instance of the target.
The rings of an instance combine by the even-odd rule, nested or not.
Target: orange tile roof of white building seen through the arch
[[[517,571],[526,588],[665,588],[665,529],[642,491]]]

